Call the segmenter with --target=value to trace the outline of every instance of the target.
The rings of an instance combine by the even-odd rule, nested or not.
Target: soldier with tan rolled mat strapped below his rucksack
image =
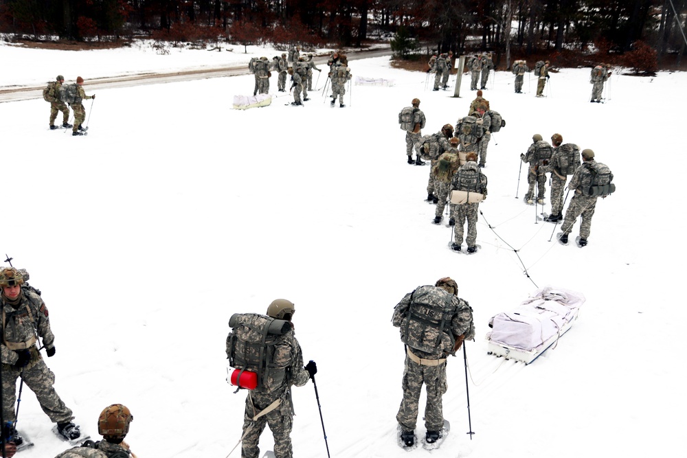
[[[486,176],[480,170],[476,163],[477,154],[469,152],[466,154],[466,162],[460,166],[458,172],[453,175],[451,180],[451,190],[475,192],[482,194],[486,199]],[[475,253],[477,251],[477,214],[480,203],[461,203],[455,205],[453,208],[453,220],[455,225],[453,227],[453,244],[451,249],[460,251],[460,246],[463,242],[463,230],[465,221],[468,223],[468,233],[465,237],[465,242],[468,244],[468,253]]]

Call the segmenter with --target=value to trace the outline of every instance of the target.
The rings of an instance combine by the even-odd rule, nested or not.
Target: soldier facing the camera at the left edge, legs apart
[[[48,357],[55,354],[55,336],[50,330],[47,308],[41,296],[24,283],[23,271],[14,267],[0,270],[0,305],[2,306],[2,360],[3,418],[14,422],[16,379],[21,376],[25,385],[36,394],[41,409],[58,426],[58,432],[68,439],[77,439],[81,433],[71,420],[74,416],[55,391],[55,374],[48,369],[38,352],[38,338]],[[17,445],[23,442],[16,433]]]

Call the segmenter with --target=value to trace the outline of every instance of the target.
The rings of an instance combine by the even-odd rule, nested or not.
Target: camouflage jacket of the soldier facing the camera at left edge
[[[2,306],[2,343],[1,360],[5,364],[16,363],[19,356],[8,345],[29,342],[36,335],[43,339],[46,349],[54,347],[55,336],[50,330],[47,308],[41,296],[29,288],[21,288],[19,304],[8,304],[5,295],[1,296]]]

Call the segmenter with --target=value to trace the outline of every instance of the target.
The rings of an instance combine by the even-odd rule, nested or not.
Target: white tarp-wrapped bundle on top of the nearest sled
[[[491,319],[490,340],[519,350],[536,350],[574,320],[584,302],[582,293],[571,290],[551,286],[537,290],[515,310]]]

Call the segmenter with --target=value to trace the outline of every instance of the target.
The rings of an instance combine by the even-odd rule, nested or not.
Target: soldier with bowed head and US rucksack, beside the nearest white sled
[[[444,327],[434,324],[436,334],[430,342],[419,336],[424,334],[425,324],[414,318],[412,312],[429,307],[420,304],[439,304],[443,309],[451,310],[444,321]],[[449,308],[449,304],[451,308]],[[431,310],[430,310],[431,311]],[[448,388],[446,378],[447,356],[454,355],[464,340],[475,337],[472,309],[469,304],[458,297],[458,284],[449,277],[439,279],[435,286],[419,286],[408,293],[394,308],[392,323],[401,328],[401,341],[405,343],[405,370],[403,371],[403,400],[398,409],[396,420],[401,430],[401,441],[406,447],[414,446],[415,428],[418,419],[418,403],[423,385],[427,387],[427,404],[425,406],[425,440],[433,443],[442,435],[444,415],[442,396]],[[430,324],[427,324],[429,327]],[[418,348],[421,347],[421,348]]]

